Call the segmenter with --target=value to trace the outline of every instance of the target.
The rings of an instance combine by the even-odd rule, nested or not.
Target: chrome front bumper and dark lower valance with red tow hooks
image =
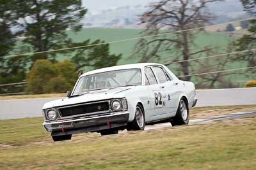
[[[52,136],[76,134],[79,132],[95,132],[109,128],[124,126],[129,119],[129,112],[113,112],[92,117],[70,118],[44,122],[44,128],[52,132]]]

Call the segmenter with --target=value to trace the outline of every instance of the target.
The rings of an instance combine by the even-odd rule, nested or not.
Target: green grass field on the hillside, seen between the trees
[[[95,28],[95,29],[82,29],[79,32],[72,32],[67,31],[68,37],[72,38],[76,42],[81,42],[86,39],[91,39],[91,43],[96,40],[104,40],[106,42],[111,41],[117,41],[120,39],[127,39],[127,38],[137,38],[140,37],[140,32],[142,29],[102,29],[102,28]],[[166,36],[173,36],[172,34],[166,35]],[[227,47],[228,43],[232,39],[236,39],[236,36],[229,36],[228,34],[221,34],[217,32],[201,32],[200,34],[196,34],[195,36],[195,44],[191,47],[191,52],[196,52],[198,50],[202,50],[202,47],[204,46],[211,46],[211,47],[218,47],[219,53],[225,53],[222,49]],[[132,56],[132,53],[134,52],[134,46],[138,40],[132,40],[132,41],[124,41],[120,43],[113,43],[109,45],[110,53],[120,54],[122,53],[122,59],[118,61],[118,65],[122,64],[132,64],[136,63],[140,60],[138,56]],[[20,42],[18,43],[17,47],[20,46]],[[164,63],[166,61],[172,60],[172,56],[175,55],[175,50],[173,52],[163,52],[161,53],[161,58],[159,60],[152,60],[151,62],[159,62]],[[57,55],[58,60],[63,59],[70,59],[70,56],[68,55]],[[200,55],[198,57],[204,57],[204,55]],[[182,60],[182,59],[180,59]],[[208,62],[214,66],[214,62],[218,60],[218,57],[209,59],[209,60],[201,60],[202,62]],[[195,62],[194,62],[195,63]],[[246,65],[243,62],[232,62],[230,66],[228,66],[228,69],[234,69],[239,67],[245,67]],[[170,69],[174,73],[177,74],[177,76],[180,76],[181,74],[177,73],[177,64],[172,64],[169,66]],[[84,68],[84,71],[88,71],[92,68]],[[214,70],[215,71],[215,70]],[[200,69],[196,70],[195,73],[200,73]],[[239,74],[239,72],[235,72],[237,74],[235,75],[229,75],[226,77],[226,80],[232,81],[236,87],[243,87],[246,81],[252,80],[253,75],[245,76],[244,74]],[[193,80],[196,83],[195,77]]]

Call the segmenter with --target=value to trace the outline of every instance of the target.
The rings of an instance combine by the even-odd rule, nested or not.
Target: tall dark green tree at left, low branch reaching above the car
[[[35,52],[42,52],[48,50],[56,50],[60,48],[68,48],[75,46],[90,45],[90,39],[84,40],[82,43],[77,43],[68,38],[67,29],[71,31],[81,31],[82,24],[79,22],[86,14],[86,9],[82,6],[81,0],[28,0],[26,2],[18,1],[17,4],[21,6],[16,9],[17,16],[22,22],[19,22],[22,28],[19,34],[26,38],[23,43],[29,44]],[[99,39],[93,43],[102,42]],[[73,51],[74,52],[74,51]],[[74,53],[83,54],[83,57],[77,59]],[[109,45],[90,46],[90,48],[80,48],[74,53],[63,50],[58,53],[44,53],[35,54],[32,56],[32,62],[37,59],[50,59],[52,62],[56,61],[56,55],[67,55],[69,58],[74,59],[77,68],[81,65],[97,67],[113,66],[116,62],[109,62],[109,60],[118,60],[120,57],[109,54]],[[92,53],[97,53],[93,55]],[[86,56],[88,54],[88,56]],[[93,56],[92,56],[93,55]],[[115,59],[113,59],[113,57]],[[100,64],[104,62],[106,64]],[[87,64],[90,62],[90,64]],[[84,63],[84,64],[81,64]],[[86,64],[85,64],[86,63]],[[100,65],[100,66],[99,66]]]

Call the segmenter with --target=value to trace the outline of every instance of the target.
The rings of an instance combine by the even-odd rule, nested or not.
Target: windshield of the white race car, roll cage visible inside
[[[140,69],[124,69],[83,76],[79,79],[72,95],[129,85],[141,85]]]

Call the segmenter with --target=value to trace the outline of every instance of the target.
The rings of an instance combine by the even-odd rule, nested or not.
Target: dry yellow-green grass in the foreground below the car
[[[194,109],[191,115],[207,110]],[[255,122],[78,134],[53,143],[42,118],[0,120],[0,169],[255,169]]]

